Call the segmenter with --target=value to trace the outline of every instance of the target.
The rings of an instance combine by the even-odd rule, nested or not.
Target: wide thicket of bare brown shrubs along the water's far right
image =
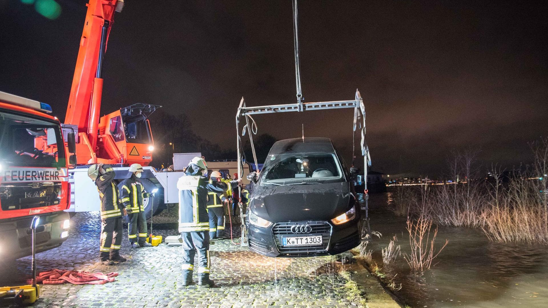
[[[453,152],[446,184],[398,187],[394,212],[438,225],[481,228],[499,242],[548,243],[548,138],[531,144],[533,164],[478,174],[477,151]]]

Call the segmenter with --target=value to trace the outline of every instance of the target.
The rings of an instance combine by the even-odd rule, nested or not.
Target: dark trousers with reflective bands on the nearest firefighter
[[[182,266],[183,272],[194,270],[194,256],[198,252],[198,276],[209,276],[209,233],[207,231],[182,232]]]

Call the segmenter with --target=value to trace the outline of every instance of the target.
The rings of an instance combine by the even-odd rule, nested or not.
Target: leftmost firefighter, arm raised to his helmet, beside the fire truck
[[[114,262],[125,262],[120,255],[122,244],[122,214],[125,210],[118,207],[118,189],[114,183],[115,172],[104,164],[93,164],[88,169],[88,176],[97,185],[101,198],[101,248],[99,259],[104,265]]]

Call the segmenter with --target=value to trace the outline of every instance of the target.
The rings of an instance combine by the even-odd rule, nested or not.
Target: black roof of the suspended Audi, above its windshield
[[[276,141],[270,149],[269,155],[287,153],[335,153],[335,149],[329,138],[293,138]]]

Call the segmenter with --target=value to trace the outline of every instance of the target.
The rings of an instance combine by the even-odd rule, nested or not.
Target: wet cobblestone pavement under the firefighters
[[[176,235],[174,210],[155,216],[153,233]],[[211,278],[217,288],[181,286],[180,247],[129,249],[127,229],[121,254],[128,261],[98,263],[98,212],[79,213],[71,220],[70,235],[61,247],[37,254],[38,271],[47,269],[118,272],[116,282],[102,285],[45,285],[35,307],[349,307],[334,256],[267,258],[233,244],[215,240],[210,248]],[[228,223],[227,223],[228,226]],[[227,228],[230,230],[230,228]],[[239,228],[233,230],[239,234]],[[235,238],[238,241],[238,238]],[[30,258],[15,261],[0,273],[4,283],[16,283],[30,274]],[[195,274],[196,275],[196,274]],[[197,280],[196,276],[194,277]]]

